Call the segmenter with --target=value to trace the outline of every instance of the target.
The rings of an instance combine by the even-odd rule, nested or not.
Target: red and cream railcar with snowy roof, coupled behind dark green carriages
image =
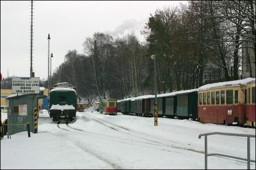
[[[198,88],[198,117],[210,124],[246,123],[246,84],[255,78],[212,83]]]

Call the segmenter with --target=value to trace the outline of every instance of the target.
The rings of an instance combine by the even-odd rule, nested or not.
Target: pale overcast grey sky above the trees
[[[150,13],[186,1],[33,1],[33,71],[48,76],[48,34],[52,73],[64,61],[68,50],[83,53],[83,41],[95,32],[113,38],[128,32],[140,35]],[[1,74],[30,76],[31,1],[1,1]]]

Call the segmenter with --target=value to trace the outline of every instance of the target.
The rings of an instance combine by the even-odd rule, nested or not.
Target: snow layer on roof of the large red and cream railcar
[[[230,86],[241,86],[246,85],[248,83],[255,82],[255,78],[245,78],[243,80],[234,80],[234,81],[224,81],[219,83],[211,83],[207,85],[203,85],[202,87],[198,88],[198,91],[200,90],[208,90],[208,89],[216,89],[221,87],[230,87]]]

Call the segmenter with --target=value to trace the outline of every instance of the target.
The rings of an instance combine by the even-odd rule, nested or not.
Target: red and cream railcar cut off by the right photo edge
[[[246,125],[255,127],[255,79],[246,84]]]

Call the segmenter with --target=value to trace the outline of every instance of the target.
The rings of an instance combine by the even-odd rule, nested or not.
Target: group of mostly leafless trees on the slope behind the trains
[[[141,34],[144,43],[132,34],[113,39],[96,32],[84,40],[83,53],[70,50],[65,55],[51,84],[68,81],[86,98],[154,94],[152,54],[157,93],[203,85],[209,66],[219,72],[214,81],[238,80],[241,48],[255,53],[255,1],[188,1],[164,7],[150,14]],[[255,65],[255,57],[250,64]]]

